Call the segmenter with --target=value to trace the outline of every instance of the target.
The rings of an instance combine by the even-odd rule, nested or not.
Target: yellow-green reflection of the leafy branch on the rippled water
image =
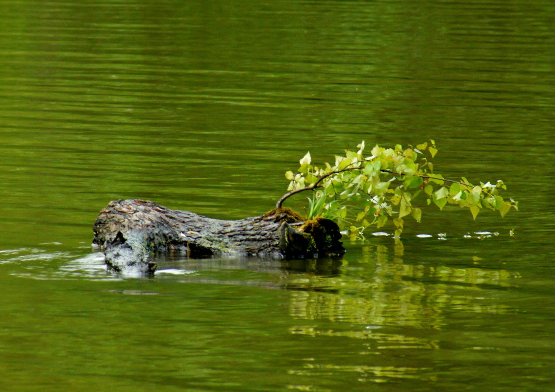
[[[364,325],[439,328],[445,323],[443,312],[453,308],[478,313],[510,311],[502,304],[476,302],[473,296],[453,296],[452,287],[508,287],[518,277],[514,272],[475,265],[405,264],[402,245],[396,245],[393,252],[382,245],[365,246],[363,254],[360,262],[365,273],[351,270],[352,262],[345,262],[341,275],[291,276],[287,284],[296,292],[291,293],[290,314]]]

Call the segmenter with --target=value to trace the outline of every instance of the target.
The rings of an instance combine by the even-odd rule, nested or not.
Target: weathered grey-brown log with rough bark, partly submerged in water
[[[157,253],[300,258],[344,252],[333,221],[304,223],[286,209],[220,220],[145,200],[117,200],[100,212],[93,230],[93,243],[102,247],[107,265],[115,271],[154,272],[152,255]]]

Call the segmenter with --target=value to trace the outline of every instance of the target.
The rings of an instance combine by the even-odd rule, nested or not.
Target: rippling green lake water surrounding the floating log
[[[553,2],[0,12],[0,390],[553,390]],[[402,245],[161,260],[154,278],[90,246],[113,199],[239,219],[306,151],[429,138],[438,172],[501,178],[521,211],[427,208]]]

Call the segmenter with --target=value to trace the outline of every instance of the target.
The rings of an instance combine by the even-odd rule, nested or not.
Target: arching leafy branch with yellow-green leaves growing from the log
[[[370,225],[380,228],[392,221],[396,237],[401,235],[405,216],[421,221],[422,210],[413,205],[419,195],[440,209],[446,204],[468,208],[474,219],[483,208],[497,210],[501,216],[511,208],[518,210],[518,202],[499,195],[499,190],[507,189],[501,180],[473,185],[465,177],[453,180],[434,173],[432,162],[425,157],[426,153],[431,158],[437,153],[433,140],[405,149],[376,145],[369,157],[364,156],[364,141],[357,148],[357,152],[346,150],[344,156],[335,157],[334,165],[326,162],[324,167],[313,165],[310,152],[306,153],[296,173],[285,173],[290,183],[276,209],[292,195],[312,190],[308,219],[334,219],[340,226],[349,226],[352,235],[362,235]],[[392,177],[382,178],[385,174]]]

